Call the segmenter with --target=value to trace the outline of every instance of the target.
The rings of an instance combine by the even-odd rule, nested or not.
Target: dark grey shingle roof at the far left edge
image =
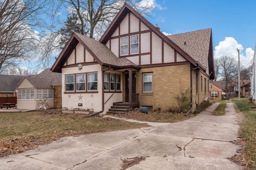
[[[14,92],[22,80],[23,76],[20,75],[3,75],[0,74],[0,92],[12,91]]]

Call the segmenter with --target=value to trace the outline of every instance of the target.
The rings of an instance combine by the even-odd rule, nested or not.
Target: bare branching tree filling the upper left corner
[[[36,49],[31,27],[38,24],[37,12],[46,1],[0,1],[0,72],[26,60]]]

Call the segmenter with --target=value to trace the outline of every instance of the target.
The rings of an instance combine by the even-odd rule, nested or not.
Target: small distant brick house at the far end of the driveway
[[[210,98],[213,100],[221,100],[222,81],[210,81]]]

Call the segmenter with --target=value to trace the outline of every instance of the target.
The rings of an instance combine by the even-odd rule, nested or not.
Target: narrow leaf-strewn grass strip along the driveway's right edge
[[[256,106],[250,103],[246,98],[232,99],[239,111],[244,114],[244,120],[241,124],[241,137],[245,140],[245,158],[247,161],[247,169],[256,169]]]

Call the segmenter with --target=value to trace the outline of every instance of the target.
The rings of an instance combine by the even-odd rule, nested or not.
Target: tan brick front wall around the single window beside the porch
[[[153,72],[153,93],[142,94],[142,73]],[[175,97],[190,89],[190,65],[173,65],[140,69],[137,72],[137,94],[140,106],[167,109],[178,106]],[[190,94],[188,95],[190,100]]]

